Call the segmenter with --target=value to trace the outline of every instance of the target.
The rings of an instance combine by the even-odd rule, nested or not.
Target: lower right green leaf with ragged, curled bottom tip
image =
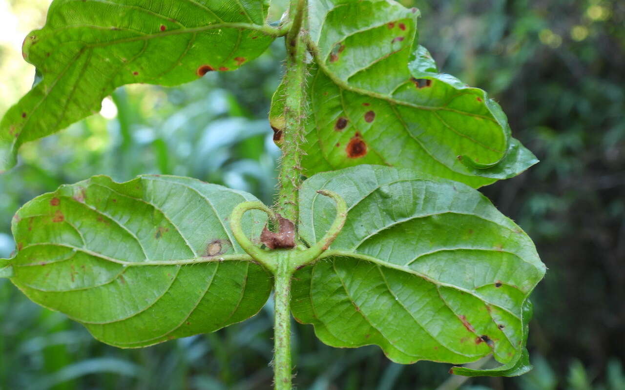
[[[294,276],[298,321],[326,344],[376,344],[399,363],[461,364],[492,353],[516,366],[522,307],[545,272],[519,226],[464,184],[361,165],[304,182],[299,232],[309,243],[336,213],[320,189],[342,196],[349,212],[327,259]]]

